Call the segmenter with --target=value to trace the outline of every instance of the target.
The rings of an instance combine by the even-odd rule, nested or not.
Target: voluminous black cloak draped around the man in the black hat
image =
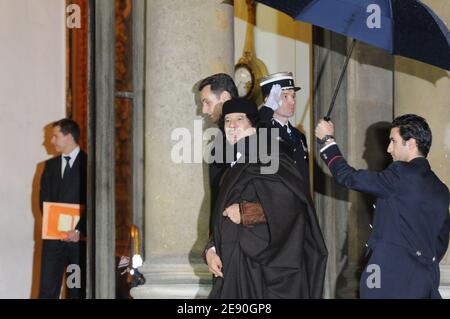
[[[285,154],[274,174],[261,174],[263,164],[249,157],[242,156],[222,179],[213,239],[224,278],[214,279],[209,297],[322,298],[328,253],[302,176]],[[259,202],[267,223],[245,227],[222,216],[243,201]]]

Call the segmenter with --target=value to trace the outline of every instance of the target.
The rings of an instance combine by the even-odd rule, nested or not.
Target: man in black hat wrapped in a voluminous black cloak
[[[253,102],[223,105],[234,158],[222,179],[206,251],[215,275],[210,298],[321,298],[327,250],[311,197],[284,153],[272,151],[278,170],[263,173],[266,155],[252,147],[259,142],[257,117]]]

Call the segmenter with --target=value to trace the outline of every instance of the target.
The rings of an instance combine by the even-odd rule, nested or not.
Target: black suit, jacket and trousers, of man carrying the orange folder
[[[40,202],[86,204],[87,155],[80,150],[67,176],[62,178],[61,156],[45,162],[41,178]],[[81,235],[86,234],[86,215],[82,214],[76,226]],[[39,298],[59,298],[63,273],[67,265],[81,268],[82,288],[68,289],[69,298],[84,297],[85,243],[69,243],[59,240],[43,240],[41,259],[41,283]],[[70,272],[68,273],[70,275]]]

